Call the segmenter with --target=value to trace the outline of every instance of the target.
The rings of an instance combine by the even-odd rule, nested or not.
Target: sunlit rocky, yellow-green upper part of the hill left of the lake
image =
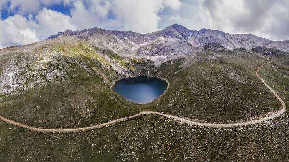
[[[0,50],[0,93],[23,91],[48,82],[71,79],[77,66],[111,84],[119,78],[152,75],[154,61],[127,59],[75,37]],[[151,67],[152,71],[147,71]],[[145,69],[145,70],[143,70]]]

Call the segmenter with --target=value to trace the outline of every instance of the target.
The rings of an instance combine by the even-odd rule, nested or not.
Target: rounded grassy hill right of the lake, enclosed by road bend
[[[158,73],[170,82],[169,90],[142,110],[216,123],[261,118],[280,108],[279,101],[255,75],[255,69],[270,59],[235,51],[201,52],[177,63],[169,61]]]

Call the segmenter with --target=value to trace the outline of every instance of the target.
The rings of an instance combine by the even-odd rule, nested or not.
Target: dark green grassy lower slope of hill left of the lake
[[[1,97],[0,114],[39,127],[83,127],[137,114],[136,104],[110,88],[118,74],[108,62],[99,59],[97,52],[89,50],[84,54],[84,50],[75,47],[77,55],[64,50],[67,54],[57,57],[58,62],[65,60],[56,67],[65,73],[65,78]],[[46,68],[54,66],[47,62]]]

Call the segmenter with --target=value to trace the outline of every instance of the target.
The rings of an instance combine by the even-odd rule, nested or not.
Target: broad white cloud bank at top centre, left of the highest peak
[[[84,5],[88,3],[87,6]],[[79,29],[101,27],[105,29],[129,30],[149,33],[158,28],[161,20],[158,13],[164,7],[179,9],[179,0],[169,1],[74,1],[71,9],[73,22]],[[109,15],[109,13],[111,15]],[[113,15],[113,16],[112,16]]]

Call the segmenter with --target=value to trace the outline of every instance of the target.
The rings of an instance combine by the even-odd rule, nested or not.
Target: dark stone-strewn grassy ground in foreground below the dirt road
[[[287,100],[288,101],[288,100]],[[288,104],[288,102],[287,102]],[[284,161],[288,114],[236,128],[186,125],[157,115],[77,133],[37,133],[0,122],[3,161]]]

